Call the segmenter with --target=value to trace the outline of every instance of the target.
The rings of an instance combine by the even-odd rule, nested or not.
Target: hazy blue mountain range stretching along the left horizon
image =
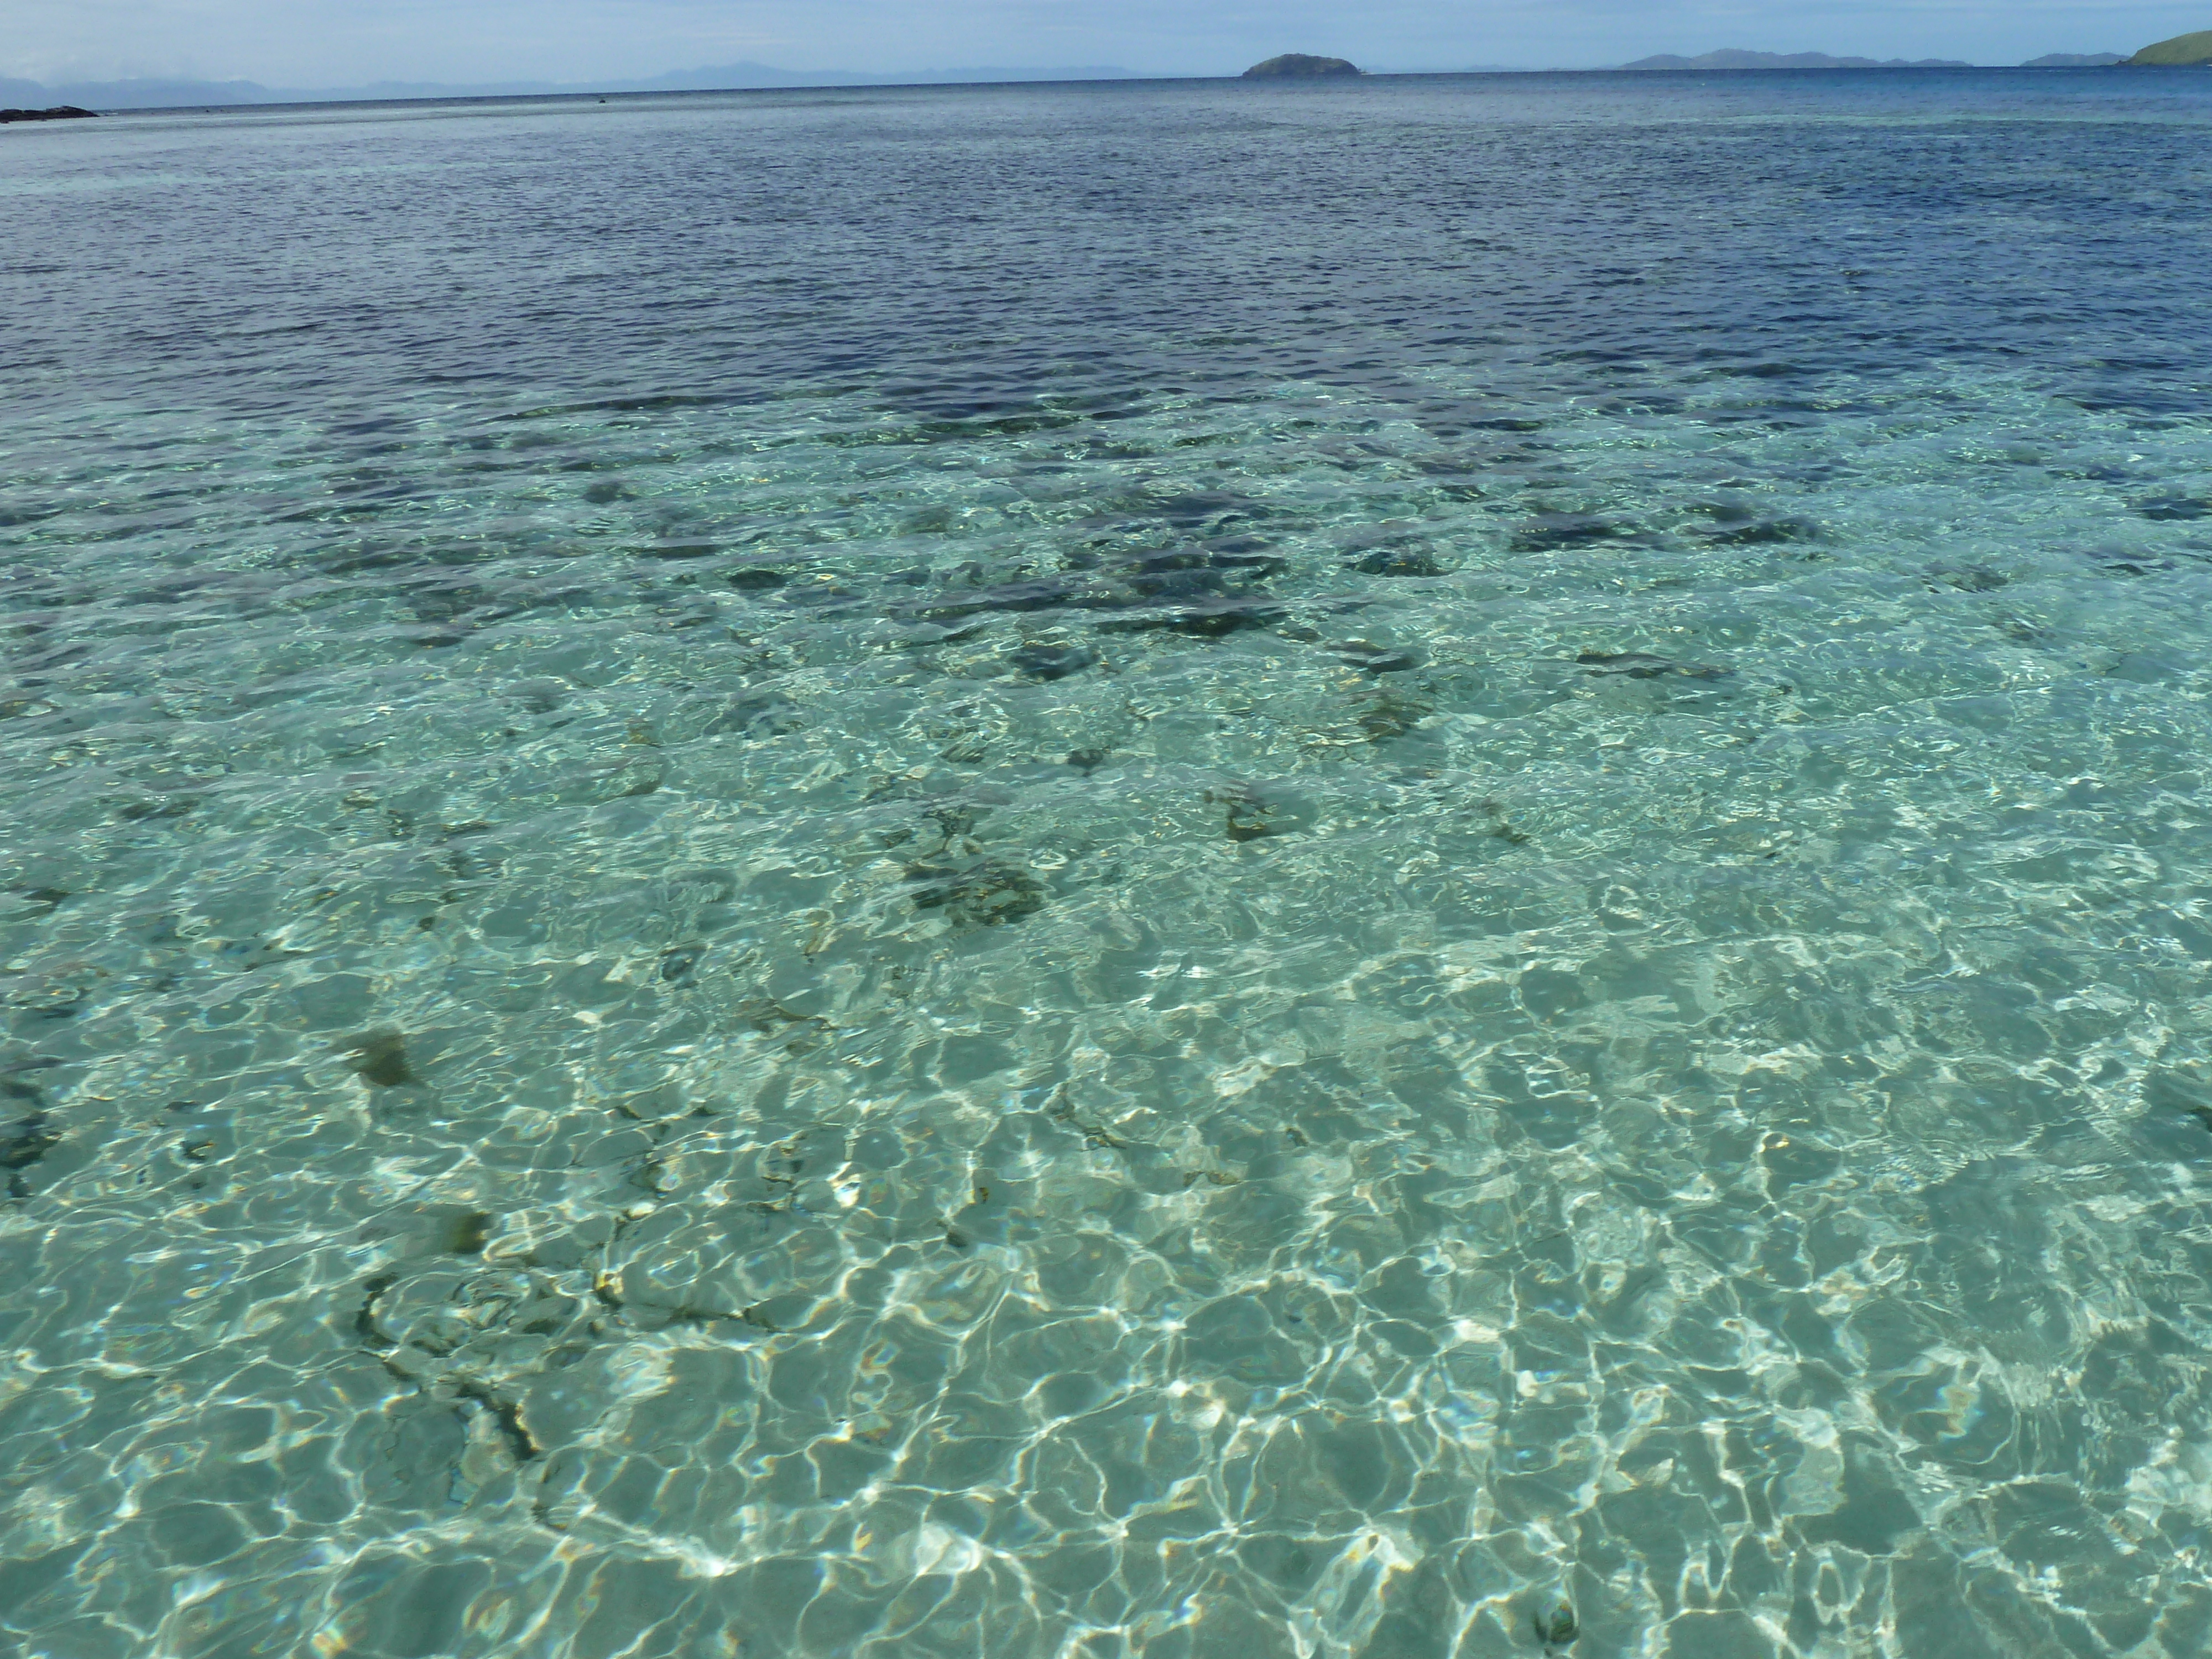
[[[774,69],[770,64],[721,64],[679,69],[650,80],[591,82],[445,82],[380,80],[367,86],[261,86],[250,80],[108,80],[42,86],[33,80],[0,77],[0,104],[84,104],[86,108],[208,108],[215,104],[349,104],[380,97],[560,97],[582,93],[721,93],[772,86],[964,86],[1009,80],[1144,80],[1135,69],[1077,64],[1068,69],[933,69],[914,75],[863,75],[843,69]]]

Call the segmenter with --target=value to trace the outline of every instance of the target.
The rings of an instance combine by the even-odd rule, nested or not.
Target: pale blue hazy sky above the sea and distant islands
[[[0,75],[586,82],[748,60],[1225,75],[1279,51],[1418,71],[1717,46],[2017,64],[2192,29],[2212,29],[2212,0],[0,0]]]

